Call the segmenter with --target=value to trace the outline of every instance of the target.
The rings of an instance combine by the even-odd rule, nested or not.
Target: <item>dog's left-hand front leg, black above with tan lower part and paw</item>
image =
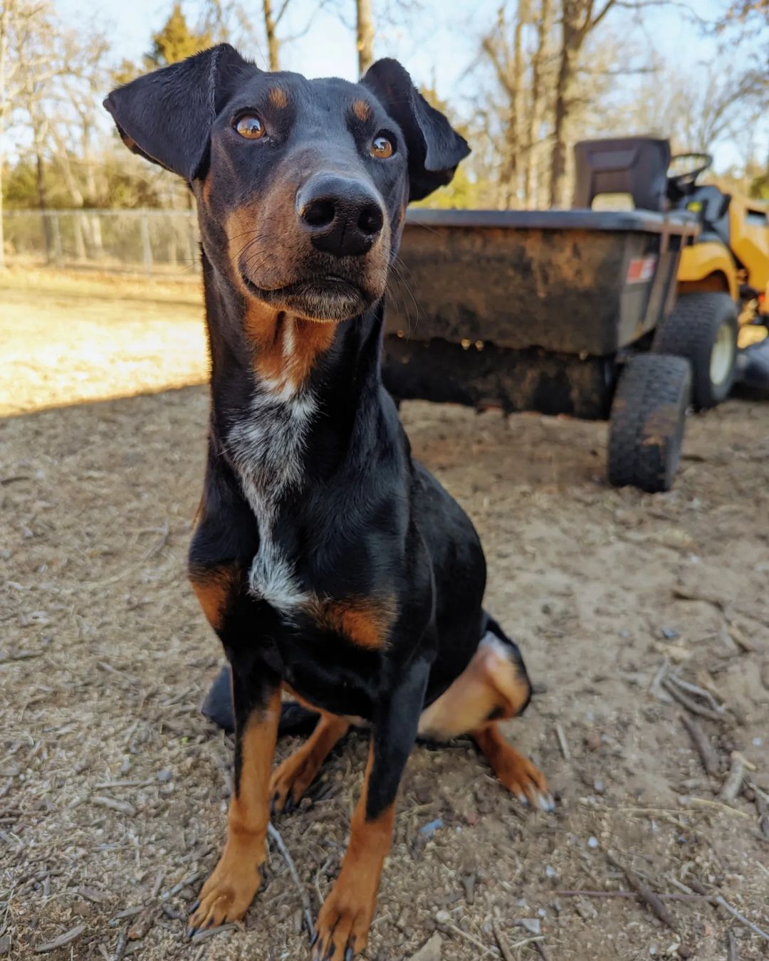
[[[281,717],[280,678],[254,658],[228,650],[235,707],[235,793],[227,842],[193,904],[189,933],[243,917],[261,885],[269,821],[269,782]]]

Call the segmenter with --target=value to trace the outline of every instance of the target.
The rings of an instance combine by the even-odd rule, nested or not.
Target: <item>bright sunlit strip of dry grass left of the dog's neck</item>
[[[199,282],[0,271],[0,416],[207,377]]]

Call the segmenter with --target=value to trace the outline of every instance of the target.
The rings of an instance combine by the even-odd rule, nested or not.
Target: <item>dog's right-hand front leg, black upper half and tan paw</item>
[[[314,961],[349,961],[365,948],[382,865],[392,842],[395,796],[416,737],[429,664],[412,664],[378,705],[363,790],[334,888],[315,928]]]

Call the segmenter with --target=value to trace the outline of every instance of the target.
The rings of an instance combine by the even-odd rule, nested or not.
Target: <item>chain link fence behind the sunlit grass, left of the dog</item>
[[[6,262],[178,274],[200,260],[191,210],[6,210]]]

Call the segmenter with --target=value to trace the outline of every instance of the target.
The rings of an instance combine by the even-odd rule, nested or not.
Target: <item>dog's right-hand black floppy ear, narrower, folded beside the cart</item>
[[[409,200],[421,200],[436,187],[448,184],[470,148],[411,83],[401,64],[389,59],[377,61],[360,83],[376,95],[406,136]]]

